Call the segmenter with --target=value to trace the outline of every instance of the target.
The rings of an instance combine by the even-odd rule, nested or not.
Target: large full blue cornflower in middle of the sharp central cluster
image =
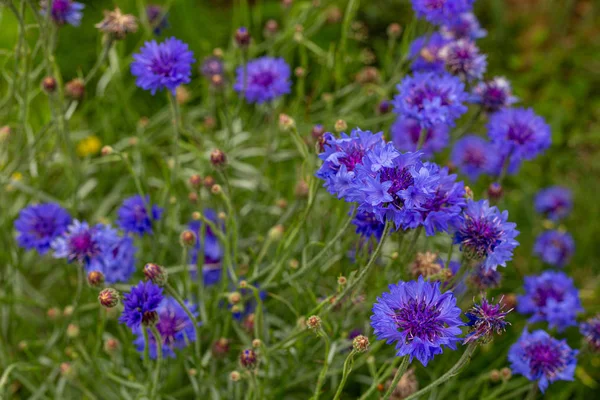
[[[360,211],[397,229],[416,228],[423,222],[423,204],[434,196],[438,176],[421,162],[422,153],[400,153],[391,143],[368,151],[356,167],[354,201]]]

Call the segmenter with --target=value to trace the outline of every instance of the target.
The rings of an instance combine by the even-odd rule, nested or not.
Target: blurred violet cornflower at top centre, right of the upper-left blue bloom
[[[262,104],[291,90],[290,66],[283,58],[261,57],[237,69],[233,88],[247,102]]]

